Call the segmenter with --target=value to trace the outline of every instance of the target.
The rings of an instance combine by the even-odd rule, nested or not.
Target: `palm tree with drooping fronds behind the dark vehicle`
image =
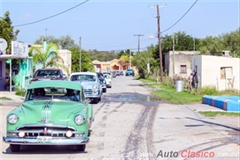
[[[64,60],[58,55],[57,45],[53,43],[48,44],[45,52],[42,52],[39,47],[32,46],[29,50],[29,54],[30,56],[33,55],[33,62],[35,64],[42,64],[42,68],[61,68],[69,75],[68,68],[64,65]]]

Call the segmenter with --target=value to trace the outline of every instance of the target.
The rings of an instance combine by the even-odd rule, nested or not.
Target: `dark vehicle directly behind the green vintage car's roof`
[[[30,83],[42,80],[67,80],[67,76],[59,68],[38,69],[31,78]]]

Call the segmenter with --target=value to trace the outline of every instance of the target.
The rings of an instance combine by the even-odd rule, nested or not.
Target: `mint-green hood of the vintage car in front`
[[[27,101],[22,104],[25,124],[54,123],[68,125],[71,117],[85,111],[82,103],[72,101],[39,100]]]

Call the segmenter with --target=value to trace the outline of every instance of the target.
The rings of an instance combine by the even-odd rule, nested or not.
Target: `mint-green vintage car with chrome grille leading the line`
[[[3,141],[12,152],[21,145],[74,145],[85,151],[93,107],[78,82],[47,80],[31,83],[24,102],[7,115]]]

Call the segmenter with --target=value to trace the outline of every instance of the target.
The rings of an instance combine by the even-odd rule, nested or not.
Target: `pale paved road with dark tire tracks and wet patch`
[[[24,146],[12,153],[1,141],[0,158],[187,159],[201,153],[208,157],[192,159],[239,159],[239,118],[206,118],[198,111],[219,109],[203,104],[172,105],[150,93],[133,77],[114,78],[113,87],[104,93],[102,101],[93,104],[95,121],[84,153],[72,146]],[[1,110],[1,136],[5,134],[5,115],[19,101],[13,106],[0,102],[5,104]]]

